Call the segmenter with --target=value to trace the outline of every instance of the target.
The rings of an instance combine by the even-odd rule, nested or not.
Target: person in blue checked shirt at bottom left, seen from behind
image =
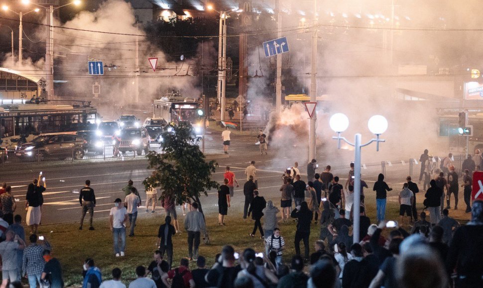
[[[18,240],[18,238],[17,238]],[[22,260],[22,275],[28,277],[30,287],[36,287],[37,282],[40,283],[40,276],[44,270],[45,260],[42,257],[44,250],[51,250],[51,246],[47,239],[44,238],[42,244],[37,244],[37,234],[31,234],[29,237],[30,245],[25,247]]]

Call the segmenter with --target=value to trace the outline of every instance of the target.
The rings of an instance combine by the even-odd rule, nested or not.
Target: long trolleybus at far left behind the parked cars
[[[86,101],[72,102],[55,105],[51,101],[0,100],[1,147],[13,150],[20,138],[29,142],[42,133],[96,130],[101,120],[97,109]]]

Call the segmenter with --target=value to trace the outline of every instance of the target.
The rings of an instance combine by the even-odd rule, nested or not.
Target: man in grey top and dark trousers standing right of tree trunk
[[[184,219],[184,228],[188,231],[188,257],[190,260],[198,259],[198,248],[200,247],[200,236],[201,232],[205,233],[205,219],[203,214],[198,211],[198,203],[194,202],[191,204],[193,210],[186,214]],[[194,244],[194,251],[193,251]]]

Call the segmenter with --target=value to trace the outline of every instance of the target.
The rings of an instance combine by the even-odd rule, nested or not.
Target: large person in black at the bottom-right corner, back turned
[[[450,275],[456,270],[456,288],[483,287],[483,201],[473,202],[471,221],[455,230],[446,259]]]

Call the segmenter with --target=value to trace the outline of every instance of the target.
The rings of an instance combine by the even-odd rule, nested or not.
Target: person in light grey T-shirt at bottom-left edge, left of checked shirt
[[[9,187],[9,186],[8,186]],[[3,193],[5,195],[8,192]],[[20,271],[18,270],[17,252],[25,248],[25,242],[9,230],[5,233],[5,241],[0,243],[1,256],[1,287],[6,287],[8,280],[10,282],[20,280]]]

